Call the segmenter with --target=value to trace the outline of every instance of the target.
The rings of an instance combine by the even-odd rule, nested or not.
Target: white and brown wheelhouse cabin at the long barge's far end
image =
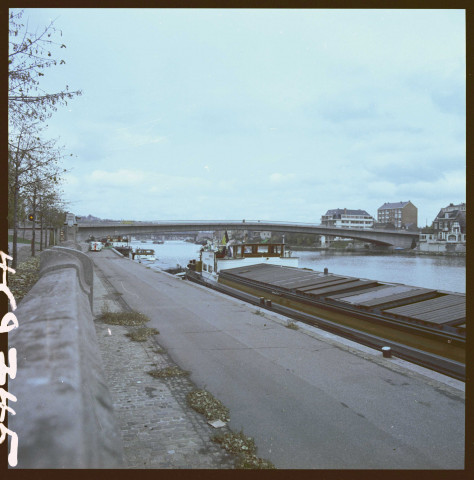
[[[205,283],[217,283],[222,270],[262,263],[297,268],[298,260],[285,249],[284,243],[208,243],[201,249],[199,260],[188,264],[187,274]]]

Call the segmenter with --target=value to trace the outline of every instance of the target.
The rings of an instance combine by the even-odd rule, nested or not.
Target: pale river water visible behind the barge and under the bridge
[[[157,257],[151,268],[165,270],[177,265],[185,267],[189,260],[199,258],[200,245],[184,241],[166,241],[153,244],[151,241],[132,242],[133,248],[152,248]],[[430,256],[403,254],[361,254],[335,251],[297,251],[301,268],[350,277],[367,278],[385,282],[404,283],[417,287],[434,288],[451,292],[466,292],[465,256]]]

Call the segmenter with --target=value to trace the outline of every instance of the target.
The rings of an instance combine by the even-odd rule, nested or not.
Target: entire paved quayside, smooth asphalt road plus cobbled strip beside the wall
[[[315,329],[292,332],[273,314],[110,251],[94,261],[108,275],[96,278],[96,314],[101,302],[120,309],[125,299],[150,316],[156,340],[280,468],[461,468],[460,382]],[[232,468],[210,441],[215,431],[185,404],[189,380],[146,374],[169,357],[150,340],[131,342],[124,327],[97,331],[129,467]]]

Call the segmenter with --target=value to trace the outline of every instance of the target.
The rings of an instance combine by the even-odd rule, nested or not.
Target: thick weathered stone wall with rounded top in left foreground
[[[9,429],[17,468],[116,468],[122,441],[92,316],[93,266],[74,244],[41,254],[40,278],[9,333],[17,375]]]

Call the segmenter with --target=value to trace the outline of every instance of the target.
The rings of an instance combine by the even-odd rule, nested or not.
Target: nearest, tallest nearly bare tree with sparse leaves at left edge
[[[24,215],[28,200],[50,194],[60,181],[58,162],[63,158],[55,142],[41,139],[41,125],[59,105],[77,95],[79,90],[69,91],[69,86],[58,92],[46,92],[41,78],[48,68],[65,64],[58,50],[66,45],[58,41],[62,32],[54,22],[41,31],[31,32],[22,23],[23,11],[10,11],[8,52],[8,194],[9,221],[13,226],[13,267],[17,263],[18,216]],[[44,198],[44,197],[43,197]],[[57,205],[60,203],[57,202]],[[59,215],[59,214],[58,214]],[[33,229],[34,232],[34,229]],[[34,255],[34,239],[32,253]]]

